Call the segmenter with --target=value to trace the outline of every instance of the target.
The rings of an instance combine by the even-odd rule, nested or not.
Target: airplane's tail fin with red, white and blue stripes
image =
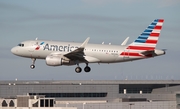
[[[164,19],[155,19],[127,49],[154,50],[162,29]]]

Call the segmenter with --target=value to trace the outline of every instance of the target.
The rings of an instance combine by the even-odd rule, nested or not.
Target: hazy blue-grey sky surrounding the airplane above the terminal
[[[179,0],[1,0],[0,80],[179,80]],[[91,72],[75,73],[76,66],[47,66],[45,60],[13,55],[18,43],[35,39],[133,42],[157,18],[164,25],[158,49],[166,55],[116,64],[89,64]],[[85,64],[80,64],[82,68]]]

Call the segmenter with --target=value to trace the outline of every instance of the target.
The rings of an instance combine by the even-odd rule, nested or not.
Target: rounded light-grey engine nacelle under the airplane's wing
[[[61,66],[61,65],[68,65],[70,63],[70,60],[67,60],[63,58],[63,56],[47,56],[46,57],[46,64],[49,66]]]

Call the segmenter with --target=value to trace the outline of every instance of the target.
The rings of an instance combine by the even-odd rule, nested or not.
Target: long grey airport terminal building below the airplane
[[[179,80],[0,81],[0,109],[180,109]]]

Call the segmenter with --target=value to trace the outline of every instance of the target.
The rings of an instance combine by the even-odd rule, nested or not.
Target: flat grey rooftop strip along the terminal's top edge
[[[28,85],[28,84],[180,84],[180,80],[5,80],[0,85]]]

